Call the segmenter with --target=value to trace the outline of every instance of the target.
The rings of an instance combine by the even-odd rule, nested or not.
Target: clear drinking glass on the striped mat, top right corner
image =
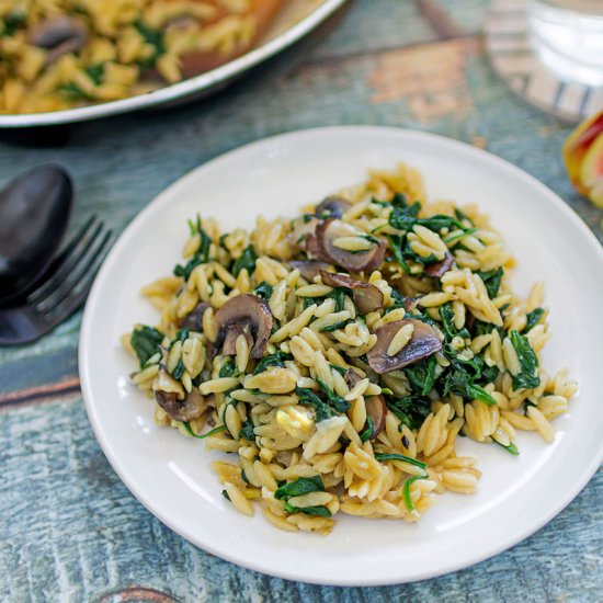
[[[603,0],[527,0],[532,43],[560,78],[603,86]]]

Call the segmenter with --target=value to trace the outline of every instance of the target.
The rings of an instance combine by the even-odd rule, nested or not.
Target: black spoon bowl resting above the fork
[[[23,297],[39,282],[65,235],[72,200],[71,179],[49,163],[0,191],[0,304]]]

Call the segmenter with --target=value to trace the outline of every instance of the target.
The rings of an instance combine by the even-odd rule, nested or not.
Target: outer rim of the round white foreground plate
[[[137,485],[130,482],[127,476],[127,471],[120,466],[118,459],[115,458],[110,444],[105,440],[103,431],[98,422],[95,408],[92,402],[93,394],[91,391],[90,383],[88,379],[88,372],[87,372],[88,365],[87,365],[84,355],[88,349],[87,340],[90,338],[90,330],[92,326],[92,307],[94,305],[95,297],[100,289],[100,284],[104,278],[104,274],[105,272],[109,271],[107,266],[111,266],[120,258],[121,247],[124,246],[127,239],[129,238],[130,231],[133,231],[139,223],[144,221],[147,215],[152,214],[153,212],[158,211],[158,208],[161,207],[163,204],[169,203],[170,196],[173,195],[174,192],[178,192],[179,187],[185,186],[190,180],[194,180],[195,178],[197,178],[197,173],[200,171],[204,171],[206,168],[209,168],[209,167],[215,167],[216,164],[219,164],[223,161],[229,161],[234,156],[237,156],[238,153],[244,153],[249,151],[250,148],[258,150],[264,146],[268,147],[275,143],[286,144],[292,140],[295,141],[295,139],[298,137],[315,137],[315,136],[320,137],[323,135],[333,135],[333,134],[334,135],[338,135],[338,134],[361,135],[362,133],[383,134],[385,136],[390,134],[395,134],[395,135],[401,134],[403,136],[423,138],[423,139],[426,139],[428,141],[432,141],[439,145],[444,145],[444,146],[447,146],[451,150],[454,150],[454,149],[464,150],[466,152],[469,152],[469,155],[474,157],[483,157],[483,153],[486,153],[488,156],[489,161],[496,163],[497,167],[500,168],[501,170],[509,172],[512,178],[522,179],[526,184],[541,189],[541,191],[550,198],[550,202],[558,207],[558,209],[565,215],[565,217],[568,220],[572,221],[574,227],[581,231],[582,236],[587,239],[588,243],[593,248],[593,250],[596,250],[595,254],[598,257],[598,260],[603,264],[603,246],[600,243],[594,232],[587,226],[587,224],[582,220],[582,218],[580,218],[580,216],[573,211],[573,208],[570,205],[568,205],[559,195],[557,195],[557,193],[555,193],[551,189],[546,186],[535,177],[533,177],[532,174],[519,168],[517,166],[514,166],[510,161],[507,161],[505,159],[490,151],[478,149],[467,143],[448,138],[446,136],[441,136],[437,134],[425,133],[420,130],[412,130],[412,129],[401,128],[401,127],[392,127],[392,126],[346,125],[346,126],[327,126],[327,127],[298,129],[298,130],[293,130],[285,134],[270,136],[247,145],[242,145],[240,147],[237,147],[232,150],[229,150],[225,153],[221,153],[202,163],[201,166],[194,168],[193,170],[183,174],[180,179],[178,179],[177,181],[168,185],[163,191],[161,191],[158,195],[156,195],[155,198],[150,201],[148,205],[145,208],[143,208],[143,211],[138,215],[135,216],[135,218],[127,225],[124,231],[120,235],[118,239],[115,241],[109,255],[104,260],[103,265],[101,266],[101,270],[96,274],[96,277],[94,280],[93,286],[89,294],[89,298],[86,304],[86,308],[82,317],[80,338],[79,338],[79,352],[78,352],[78,366],[79,366],[82,398],[84,401],[84,408],[86,408],[90,424],[94,432],[94,436],[96,437],[96,441],[101,446],[103,454],[110,462],[113,470],[117,474],[122,482],[132,492],[132,494],[134,494],[134,497],[157,520],[159,520],[161,523],[163,523],[166,526],[168,526],[179,536],[184,538],[186,542],[193,544],[195,547],[198,547],[204,551],[215,555],[229,562],[236,564],[240,567],[244,567],[247,569],[251,569],[253,571],[258,571],[263,574],[273,576],[273,577],[282,578],[286,580],[299,581],[299,582],[311,583],[311,584],[334,585],[334,587],[377,587],[377,585],[408,583],[408,582],[425,580],[429,578],[436,578],[454,571],[469,568],[480,561],[490,559],[499,555],[500,553],[503,553],[504,550],[512,548],[513,546],[523,542],[527,537],[532,536],[535,532],[544,527],[546,524],[548,524],[583,490],[583,488],[591,480],[593,475],[596,473],[596,470],[603,463],[603,442],[601,443],[600,448],[598,450],[598,453],[591,457],[590,463],[583,466],[583,469],[580,473],[579,478],[574,479],[574,481],[572,482],[572,487],[568,488],[562,493],[562,496],[557,498],[548,508],[546,513],[544,513],[537,521],[534,521],[533,524],[530,525],[530,527],[520,530],[517,531],[516,534],[512,534],[510,537],[501,539],[500,543],[497,543],[496,545],[491,546],[490,548],[488,548],[487,551],[483,551],[483,550],[479,551],[477,554],[474,554],[470,557],[470,559],[463,559],[462,561],[458,561],[456,559],[448,560],[445,564],[442,564],[441,567],[435,571],[426,569],[422,572],[416,572],[412,578],[400,578],[400,577],[392,576],[391,578],[388,578],[388,579],[377,578],[373,580],[371,578],[363,578],[362,580],[356,580],[353,577],[345,578],[342,576],[338,576],[332,580],[325,581],[320,579],[312,579],[311,577],[309,578],[304,577],[300,571],[295,571],[291,569],[287,569],[287,570],[268,569],[266,570],[266,568],[262,566],[261,562],[257,562],[253,558],[240,559],[237,557],[236,554],[231,554],[230,551],[225,553],[221,549],[218,550],[218,548],[215,547],[212,543],[201,543],[198,538],[194,538],[194,537],[191,537],[190,535],[184,534],[183,531],[181,531],[179,527],[174,525],[174,523],[171,521],[169,516],[164,516],[163,514],[159,513],[155,509],[153,501],[147,500],[145,492],[141,491],[143,489],[139,488]]]

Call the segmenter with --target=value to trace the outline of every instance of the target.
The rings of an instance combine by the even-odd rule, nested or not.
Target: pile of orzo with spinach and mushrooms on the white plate
[[[434,493],[471,493],[456,439],[519,454],[550,442],[577,390],[541,366],[543,287],[475,206],[428,202],[405,166],[294,220],[220,234],[190,224],[184,262],[145,287],[161,311],[124,344],[159,424],[238,455],[224,496],[277,527],[328,533],[337,512],[416,521]]]

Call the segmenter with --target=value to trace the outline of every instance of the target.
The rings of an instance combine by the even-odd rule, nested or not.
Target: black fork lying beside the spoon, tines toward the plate
[[[111,242],[112,231],[91,217],[24,303],[0,309],[0,345],[34,341],[69,318],[86,300]]]

